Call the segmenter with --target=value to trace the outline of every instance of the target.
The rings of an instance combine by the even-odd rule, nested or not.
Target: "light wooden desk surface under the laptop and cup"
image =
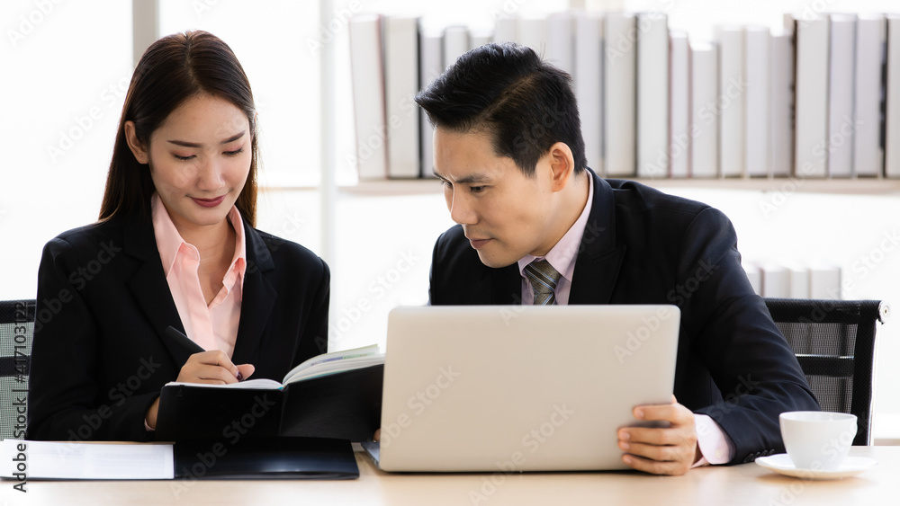
[[[900,447],[854,447],[879,466],[836,481],[806,481],[756,464],[711,466],[683,476],[639,473],[403,475],[375,468],[357,453],[360,477],[348,481],[29,482],[27,493],[2,481],[0,504],[888,504],[900,495]]]

